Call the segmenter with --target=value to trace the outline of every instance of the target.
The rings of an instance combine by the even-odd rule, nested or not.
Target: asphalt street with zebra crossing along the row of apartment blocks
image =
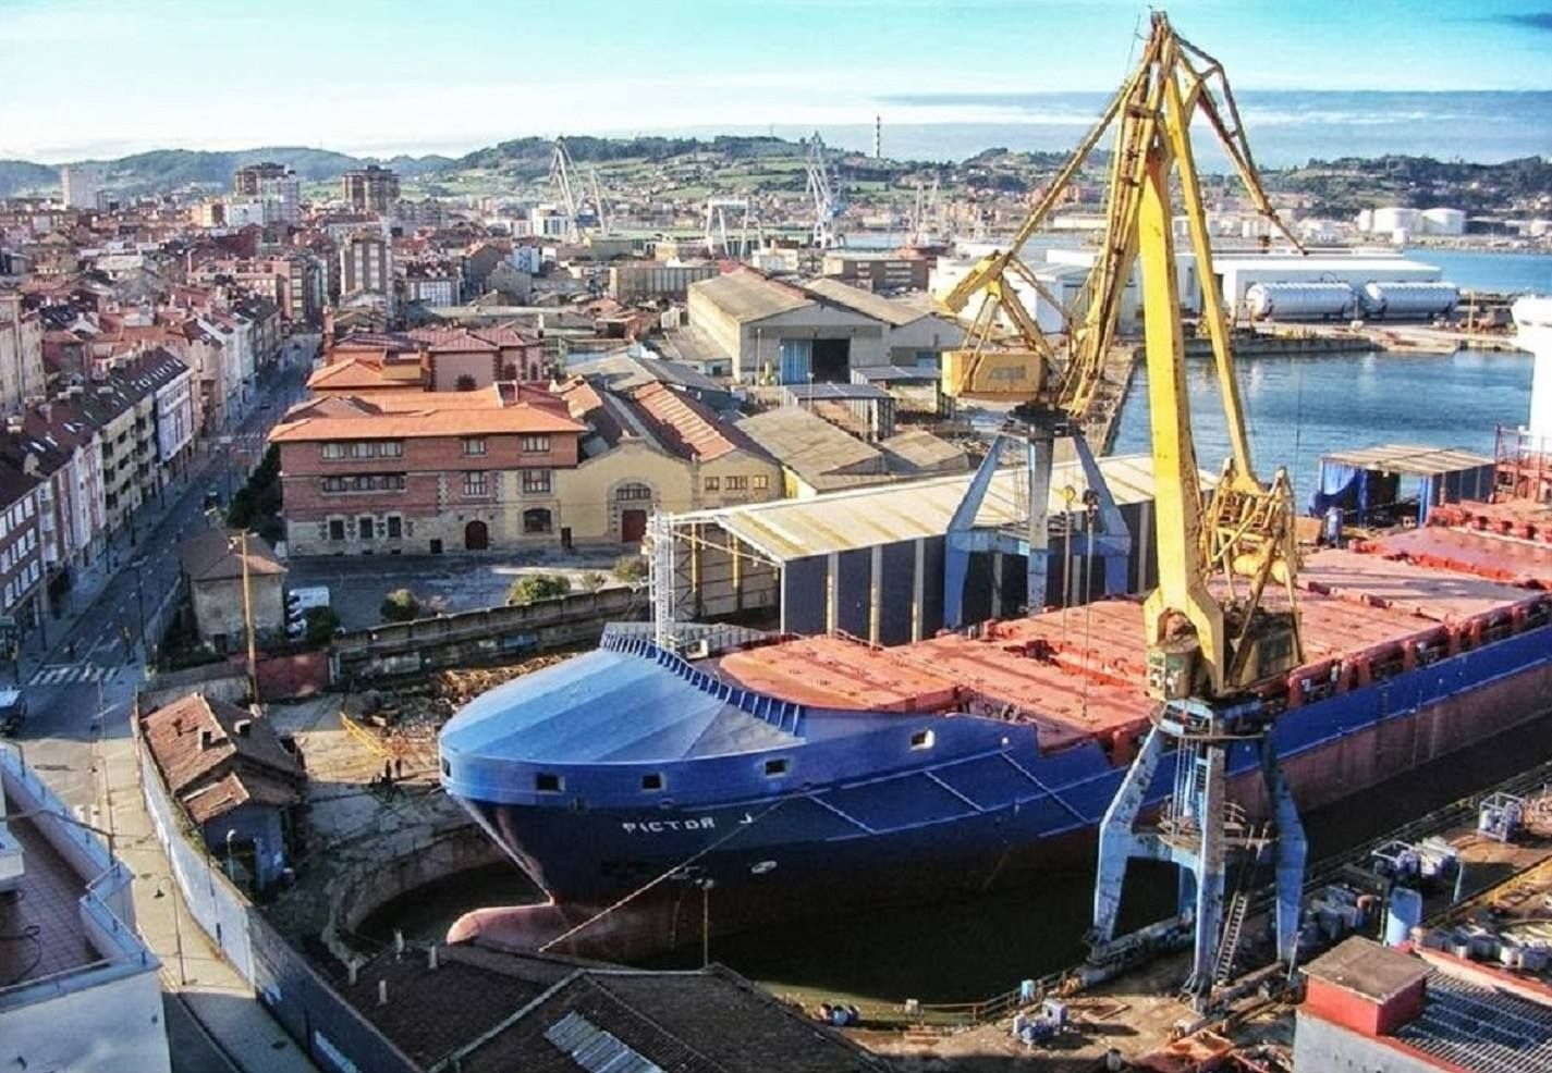
[[[227,482],[237,488],[247,481],[248,470],[262,457],[268,428],[301,397],[315,349],[315,335],[287,340],[278,371],[259,385],[255,405],[231,433],[231,442],[211,437],[196,443],[185,474],[163,490],[165,513],[155,516],[158,505],[151,502],[135,519],[144,526],[155,516],[151,529],[112,541],[95,566],[113,571],[101,591],[90,595],[87,580],[79,578],[61,600],[62,616],[25,639],[17,673],[26,687],[28,719],[17,740],[28,763],[70,805],[95,808],[96,743],[129,733],[135,687],[146,673],[141,623],[165,620],[160,612],[177,592],[178,541],[208,524],[206,490],[219,484],[223,502],[230,502]]]

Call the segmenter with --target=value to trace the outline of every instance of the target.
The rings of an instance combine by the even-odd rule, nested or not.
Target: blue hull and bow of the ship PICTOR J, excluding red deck
[[[1308,809],[1549,709],[1541,625],[1290,709],[1276,744]],[[652,885],[635,954],[672,941],[670,873],[711,881],[736,927],[1082,859],[1127,768],[1097,740],[1041,754],[1020,723],[784,702],[618,639],[478,698],[441,750],[447,791],[562,910],[551,930]],[[1243,747],[1231,777],[1256,763]],[[1148,803],[1172,785],[1167,757]]]

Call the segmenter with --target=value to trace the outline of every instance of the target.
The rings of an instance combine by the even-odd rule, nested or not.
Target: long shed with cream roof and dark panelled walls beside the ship
[[[1127,577],[1133,591],[1155,580],[1153,465],[1147,456],[1099,461],[1133,535]],[[675,617],[739,619],[784,633],[841,631],[874,643],[930,637],[944,623],[944,541],[973,474],[837,492],[816,499],[776,501],[675,515]],[[1206,474],[1204,474],[1206,482]],[[1024,524],[1023,467],[998,473],[976,516],[978,526]],[[1065,488],[1086,488],[1076,462],[1051,476],[1052,515],[1066,510]],[[1082,521],[1074,519],[1080,527]],[[1082,536],[1074,540],[1082,555]],[[1066,577],[1066,546],[1052,535],[1052,577]],[[1018,612],[1024,563],[978,555],[965,599],[968,619]],[[1080,571],[1072,571],[1077,575]]]

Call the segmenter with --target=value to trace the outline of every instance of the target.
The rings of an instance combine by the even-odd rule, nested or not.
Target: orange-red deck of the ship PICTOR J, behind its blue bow
[[[1305,665],[1321,667],[1538,599],[1552,589],[1552,546],[1432,527],[1319,550],[1299,588]],[[1013,718],[1054,750],[1141,729],[1144,667],[1141,602],[1100,600],[899,648],[788,640],[723,656],[719,673],[816,707]]]

